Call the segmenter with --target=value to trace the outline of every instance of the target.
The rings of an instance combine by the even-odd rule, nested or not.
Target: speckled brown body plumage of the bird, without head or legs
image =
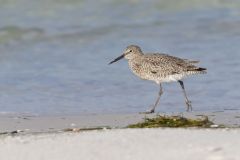
[[[167,54],[142,54],[128,61],[129,68],[138,77],[156,83],[181,80],[189,75],[206,73],[191,61]]]

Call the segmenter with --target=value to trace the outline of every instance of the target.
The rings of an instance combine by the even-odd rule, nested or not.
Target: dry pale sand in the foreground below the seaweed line
[[[240,129],[115,129],[0,137],[2,160],[239,160]]]

